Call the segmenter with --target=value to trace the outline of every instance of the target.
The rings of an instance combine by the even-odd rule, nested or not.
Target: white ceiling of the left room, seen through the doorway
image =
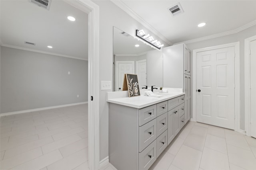
[[[18,46],[66,57],[88,59],[88,14],[64,1],[50,10],[29,0],[0,0],[1,45]],[[76,21],[69,21],[73,16]],[[36,45],[27,45],[28,41]],[[49,49],[50,45],[53,48]]]

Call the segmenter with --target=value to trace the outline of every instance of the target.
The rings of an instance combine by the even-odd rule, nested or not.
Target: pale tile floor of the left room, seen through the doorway
[[[0,169],[88,167],[88,104],[3,116]]]

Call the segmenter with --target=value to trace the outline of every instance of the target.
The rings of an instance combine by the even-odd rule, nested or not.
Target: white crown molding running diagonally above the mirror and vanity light
[[[162,35],[160,32],[158,32],[154,27],[152,27],[149,23],[147,23],[144,19],[142,19],[138,14],[136,14],[131,8],[129,8],[124,2],[121,0],[111,0],[116,6],[121,8],[124,12],[126,12],[128,15],[130,15],[132,18],[137,20],[139,23],[141,23],[144,27],[149,29],[152,33],[154,33],[156,36],[158,36],[160,39],[162,39],[164,42],[166,42],[168,45],[173,45],[171,41],[169,41],[164,35]]]

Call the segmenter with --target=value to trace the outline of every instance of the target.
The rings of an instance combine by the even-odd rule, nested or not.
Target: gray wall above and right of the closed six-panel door
[[[240,42],[240,129],[244,130],[244,39],[256,35],[256,25],[239,33],[186,44],[193,51],[204,47]]]

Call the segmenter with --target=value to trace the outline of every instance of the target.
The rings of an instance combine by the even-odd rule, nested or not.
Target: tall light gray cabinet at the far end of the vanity
[[[185,123],[191,117],[191,51],[184,43],[163,49],[163,87],[182,88],[185,92]]]

